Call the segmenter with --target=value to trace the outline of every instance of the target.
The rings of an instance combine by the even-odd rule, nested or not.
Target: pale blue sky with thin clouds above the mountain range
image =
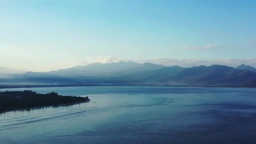
[[[255,0],[0,0],[0,66],[256,66]]]

